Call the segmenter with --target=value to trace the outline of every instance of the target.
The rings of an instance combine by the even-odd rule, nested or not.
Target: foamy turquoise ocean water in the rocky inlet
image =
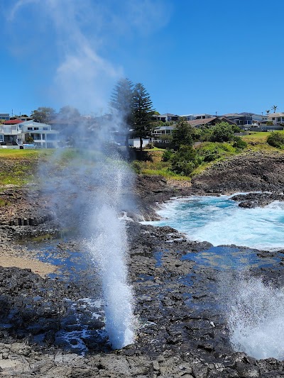
[[[143,222],[171,226],[190,240],[217,245],[240,245],[261,250],[284,248],[284,202],[244,209],[231,196],[191,196],[173,199],[158,211],[160,221]]]

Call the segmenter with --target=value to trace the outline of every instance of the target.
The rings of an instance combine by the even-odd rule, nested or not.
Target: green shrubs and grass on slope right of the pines
[[[238,130],[224,123],[204,129],[194,129],[190,126],[186,128],[185,123],[179,126],[178,132],[173,136],[175,148],[144,149],[148,152],[149,158],[147,161],[133,162],[136,172],[161,174],[168,179],[190,180],[192,176],[207,169],[214,162],[226,160],[233,155],[256,151],[284,152],[284,143],[283,145],[271,143],[271,138],[284,141],[284,131],[236,136],[235,132]],[[187,145],[182,144],[182,140],[187,140]]]

